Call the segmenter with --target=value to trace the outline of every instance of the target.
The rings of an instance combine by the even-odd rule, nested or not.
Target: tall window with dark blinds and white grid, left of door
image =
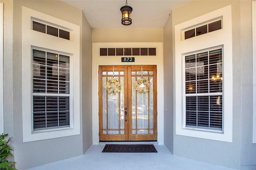
[[[70,58],[33,49],[34,130],[69,127]]]

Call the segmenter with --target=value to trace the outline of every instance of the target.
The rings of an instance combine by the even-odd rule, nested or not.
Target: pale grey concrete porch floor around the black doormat
[[[102,153],[104,146],[92,145],[84,155],[29,170],[228,170],[174,156],[165,145],[154,145],[158,153]]]

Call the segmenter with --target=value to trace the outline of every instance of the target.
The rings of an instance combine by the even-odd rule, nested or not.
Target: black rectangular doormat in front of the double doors
[[[102,152],[157,152],[154,144],[106,144]]]

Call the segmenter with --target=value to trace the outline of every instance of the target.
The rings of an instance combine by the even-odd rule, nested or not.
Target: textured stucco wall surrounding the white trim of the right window
[[[194,0],[172,10],[172,30],[174,31],[176,24],[230,4],[232,5],[232,64],[234,75],[232,142],[174,135],[173,152],[178,156],[219,166],[235,169],[255,169],[256,145],[252,144],[251,1],[225,0],[217,3],[214,0]]]

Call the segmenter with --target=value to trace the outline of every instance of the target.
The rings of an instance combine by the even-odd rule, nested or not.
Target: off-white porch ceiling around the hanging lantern
[[[132,24],[121,24],[126,0],[62,0],[83,10],[92,28],[163,28],[173,8],[190,0],[128,0]]]

